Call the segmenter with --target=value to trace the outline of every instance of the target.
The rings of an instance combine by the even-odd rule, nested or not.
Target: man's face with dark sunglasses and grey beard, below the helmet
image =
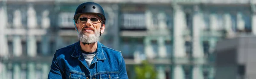
[[[99,40],[101,26],[101,33],[105,30],[102,18],[96,14],[81,14],[78,19],[76,26],[79,32],[79,40],[89,44],[97,42]]]

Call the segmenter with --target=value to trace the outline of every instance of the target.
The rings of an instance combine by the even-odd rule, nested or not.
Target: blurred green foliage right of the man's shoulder
[[[142,61],[142,65],[135,66],[136,79],[156,79],[157,73],[154,66],[148,61]]]

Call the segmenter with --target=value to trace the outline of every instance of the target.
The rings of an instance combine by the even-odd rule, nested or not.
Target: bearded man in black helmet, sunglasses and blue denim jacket
[[[104,10],[97,3],[82,3],[76,8],[79,42],[55,51],[48,79],[128,79],[121,52],[98,41],[105,21]]]

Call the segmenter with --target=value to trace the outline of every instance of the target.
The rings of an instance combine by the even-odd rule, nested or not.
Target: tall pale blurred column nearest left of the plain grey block
[[[195,7],[198,8],[198,7]],[[197,65],[194,65],[193,71],[192,71],[192,79],[204,79],[201,65],[204,63],[204,51],[203,51],[203,45],[201,41],[201,31],[204,27],[204,17],[201,11],[197,11],[195,15],[193,16],[193,30],[192,30],[192,48],[193,53],[192,56],[194,57],[195,61],[194,63]]]

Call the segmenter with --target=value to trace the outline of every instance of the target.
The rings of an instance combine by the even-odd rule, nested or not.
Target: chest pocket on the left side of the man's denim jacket
[[[81,78],[81,74],[76,73],[74,71],[66,71],[65,72],[65,77],[67,79],[80,79]]]

